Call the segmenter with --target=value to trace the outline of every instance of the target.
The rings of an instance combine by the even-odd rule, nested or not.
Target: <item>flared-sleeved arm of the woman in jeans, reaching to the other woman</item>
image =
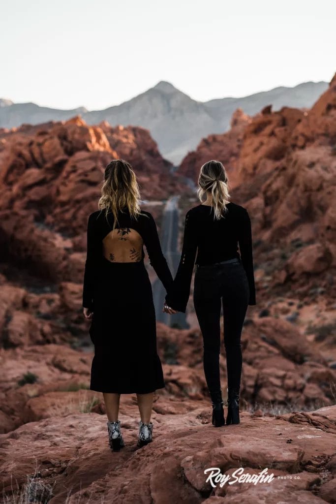
[[[166,303],[171,308],[185,313],[190,296],[190,285],[197,251],[196,226],[191,211],[185,215],[183,245],[180,263],[174,279],[174,284],[166,296]]]

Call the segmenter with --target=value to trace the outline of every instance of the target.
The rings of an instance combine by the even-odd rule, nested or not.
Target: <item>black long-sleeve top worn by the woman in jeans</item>
[[[172,289],[166,295],[166,303],[173,309],[186,311],[194,264],[210,265],[233,258],[240,258],[246,271],[248,304],[256,304],[250,217],[240,205],[230,202],[226,206],[228,212],[219,220],[214,220],[214,210],[209,205],[197,205],[186,213],[181,260]]]

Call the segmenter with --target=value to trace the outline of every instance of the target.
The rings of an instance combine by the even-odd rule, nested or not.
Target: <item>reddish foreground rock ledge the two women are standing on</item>
[[[49,504],[336,501],[336,406],[274,416],[243,412],[239,425],[215,428],[205,402],[160,396],[153,443],[138,449],[137,406],[124,397],[126,446],[119,453],[111,452],[99,413],[52,415],[1,435],[3,501],[19,502],[19,495]],[[208,480],[210,468],[231,479]],[[273,479],[241,482],[236,470],[266,470]]]

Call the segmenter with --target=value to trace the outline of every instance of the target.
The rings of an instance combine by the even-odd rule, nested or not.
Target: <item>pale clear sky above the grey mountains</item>
[[[89,110],[165,80],[200,101],[330,81],[333,0],[10,0],[0,98]]]

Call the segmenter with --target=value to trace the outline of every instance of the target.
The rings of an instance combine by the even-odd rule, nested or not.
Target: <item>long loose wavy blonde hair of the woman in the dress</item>
[[[114,159],[105,168],[101,197],[98,201],[99,210],[105,209],[105,216],[112,212],[113,229],[118,223],[118,212],[128,210],[130,216],[138,219],[145,215],[140,210],[140,190],[137,177],[131,165],[123,159]]]

